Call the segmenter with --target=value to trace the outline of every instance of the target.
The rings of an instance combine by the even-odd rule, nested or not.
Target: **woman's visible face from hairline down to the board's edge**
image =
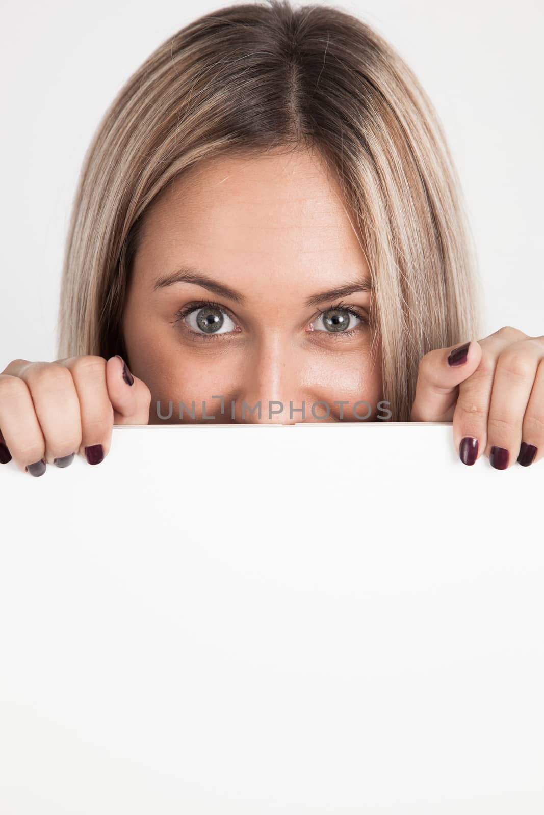
[[[151,391],[150,423],[375,421],[365,280],[315,154],[202,162],[148,210],[127,292],[127,362]]]

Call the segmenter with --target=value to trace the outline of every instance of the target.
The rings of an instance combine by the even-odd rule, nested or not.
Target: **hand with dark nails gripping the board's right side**
[[[450,351],[457,352],[453,365]],[[496,469],[540,460],[544,337],[507,325],[467,346],[430,351],[419,363],[411,421],[453,421],[463,464],[474,464],[483,452]]]

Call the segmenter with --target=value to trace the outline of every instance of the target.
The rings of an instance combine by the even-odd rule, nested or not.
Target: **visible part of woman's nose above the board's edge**
[[[285,337],[279,333],[261,337],[247,357],[238,394],[238,421],[280,424],[301,421],[302,413],[295,411],[295,408],[301,407],[297,363],[296,350]],[[292,418],[290,400],[294,408]]]

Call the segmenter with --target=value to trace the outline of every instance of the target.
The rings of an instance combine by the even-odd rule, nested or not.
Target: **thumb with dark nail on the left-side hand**
[[[151,391],[118,354],[106,362],[106,386],[114,425],[148,425]]]

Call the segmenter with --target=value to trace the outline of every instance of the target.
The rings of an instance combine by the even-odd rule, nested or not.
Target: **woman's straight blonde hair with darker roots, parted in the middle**
[[[414,73],[334,7],[242,3],[201,16],[130,77],[82,166],[66,242],[59,357],[119,353],[146,209],[199,161],[316,149],[374,283],[383,399],[409,421],[429,350],[476,339],[480,281],[456,170]]]

